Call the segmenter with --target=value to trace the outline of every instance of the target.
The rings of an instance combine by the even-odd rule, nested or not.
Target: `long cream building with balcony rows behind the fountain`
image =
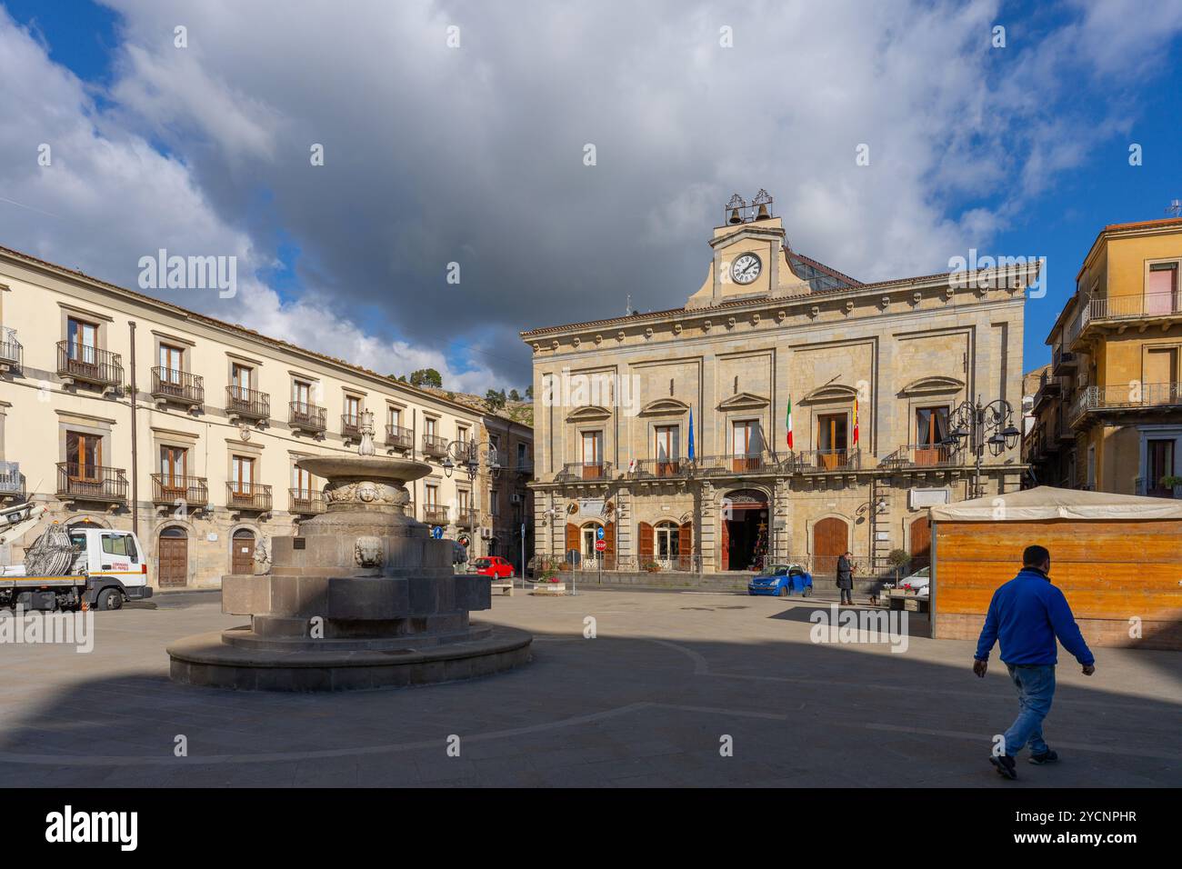
[[[152,585],[253,572],[324,510],[296,461],[355,452],[365,411],[378,449],[433,466],[411,486],[416,518],[467,538],[469,560],[496,546],[487,450],[472,479],[444,461],[501,433],[479,409],[4,248],[0,335],[0,501],[134,528]]]

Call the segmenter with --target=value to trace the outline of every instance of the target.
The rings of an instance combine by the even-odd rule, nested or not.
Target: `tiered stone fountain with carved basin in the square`
[[[533,637],[473,623],[489,581],[456,575],[453,543],[405,514],[407,482],[430,473],[378,456],[365,411],[358,455],[297,465],[327,480],[326,511],[272,540],[271,570],[222,577],[222,611],[251,624],[174,643],[173,681],[258,690],[348,690],[449,682],[530,660]]]

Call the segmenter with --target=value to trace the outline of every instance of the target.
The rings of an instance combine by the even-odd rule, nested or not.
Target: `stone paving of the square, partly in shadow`
[[[1020,763],[1007,783],[986,759],[1017,708],[1000,662],[982,681],[967,642],[813,643],[810,614],[827,607],[518,592],[482,615],[537,635],[524,668],[310,695],[169,682],[169,642],[242,618],[215,596],[162,595],[96,614],[91,654],[0,646],[0,785],[1182,785],[1182,653],[1099,649],[1091,679],[1061,663],[1046,737],[1063,761]]]

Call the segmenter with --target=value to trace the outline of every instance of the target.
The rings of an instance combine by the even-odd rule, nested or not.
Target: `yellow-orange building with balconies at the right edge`
[[[1182,219],[1096,238],[1051,329],[1026,458],[1039,482],[1182,497]]]

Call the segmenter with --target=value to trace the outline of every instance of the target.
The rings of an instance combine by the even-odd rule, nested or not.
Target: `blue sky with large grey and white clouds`
[[[1182,199],[1180,47],[1182,0],[0,0],[0,245],[234,257],[142,291],[482,394],[521,330],[683,305],[765,188],[863,281],[1045,257],[1030,370],[1099,229]]]

